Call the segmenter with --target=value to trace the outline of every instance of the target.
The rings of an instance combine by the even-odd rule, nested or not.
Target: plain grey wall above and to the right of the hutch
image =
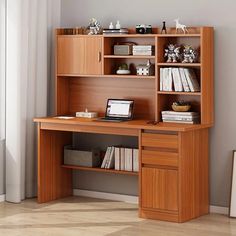
[[[167,26],[174,26],[173,20],[178,17],[186,25],[215,27],[215,126],[210,135],[210,202],[218,206],[229,203],[232,150],[236,149],[235,8],[234,0],[62,0],[61,7],[62,27],[87,26],[92,17],[105,27],[116,20],[125,27],[138,23],[160,27],[163,20]],[[122,184],[117,188],[120,187]]]

